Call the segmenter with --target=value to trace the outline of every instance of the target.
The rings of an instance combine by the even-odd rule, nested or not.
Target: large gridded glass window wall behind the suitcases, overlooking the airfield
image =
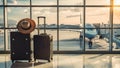
[[[45,16],[54,51],[119,51],[119,4],[119,0],[0,0],[0,50],[10,49],[9,34],[17,31],[18,21],[31,18],[37,24],[37,17]],[[40,19],[40,33],[43,22]]]

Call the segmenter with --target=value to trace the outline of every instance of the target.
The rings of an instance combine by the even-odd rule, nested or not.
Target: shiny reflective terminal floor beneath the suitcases
[[[16,61],[9,54],[0,54],[0,68],[120,68],[120,55],[103,54],[54,54],[53,61]]]

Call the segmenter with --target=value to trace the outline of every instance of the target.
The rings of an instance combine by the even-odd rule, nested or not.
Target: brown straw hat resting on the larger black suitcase
[[[20,20],[17,24],[17,29],[23,34],[31,33],[36,27],[35,22],[32,19],[24,18]]]

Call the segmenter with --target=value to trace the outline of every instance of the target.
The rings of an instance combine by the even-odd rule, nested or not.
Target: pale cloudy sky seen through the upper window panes
[[[83,0],[59,0],[60,5],[83,5]],[[116,0],[115,4],[119,5],[120,0]],[[2,0],[0,0],[2,4]],[[8,5],[29,5],[29,0],[7,0]],[[57,0],[33,0],[33,5],[56,5]],[[87,5],[109,5],[109,0],[86,0]],[[60,24],[80,24],[83,23],[83,8],[78,7],[60,7],[59,21]],[[2,18],[2,8],[0,8],[0,18]],[[119,8],[115,8],[114,22],[119,23]],[[30,8],[28,7],[9,7],[7,8],[8,21],[19,21],[22,18],[30,16]],[[81,20],[80,20],[81,15]],[[37,22],[37,16],[46,16],[48,24],[56,24],[57,8],[55,7],[33,7],[33,20]],[[73,16],[73,17],[72,17]],[[86,8],[86,23],[108,23],[109,8]],[[0,19],[2,20],[2,19]]]

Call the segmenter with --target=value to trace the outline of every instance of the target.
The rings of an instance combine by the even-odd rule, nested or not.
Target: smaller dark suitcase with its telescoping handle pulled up
[[[50,62],[53,57],[53,36],[46,34],[45,17],[38,17],[38,24],[39,18],[44,18],[44,33],[39,35],[38,28],[38,35],[34,35],[34,60],[44,59]]]

